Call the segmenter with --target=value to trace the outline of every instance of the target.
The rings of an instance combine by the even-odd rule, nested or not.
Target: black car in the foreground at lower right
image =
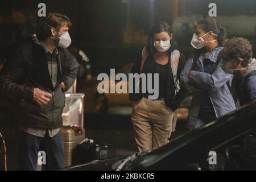
[[[152,151],[63,170],[256,169],[256,101]]]

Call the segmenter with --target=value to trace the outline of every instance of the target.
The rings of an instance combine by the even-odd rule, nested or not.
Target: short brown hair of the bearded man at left
[[[40,27],[39,39],[45,40],[50,37],[52,27],[60,30],[65,23],[67,23],[68,28],[71,28],[72,23],[67,16],[59,13],[49,13]]]

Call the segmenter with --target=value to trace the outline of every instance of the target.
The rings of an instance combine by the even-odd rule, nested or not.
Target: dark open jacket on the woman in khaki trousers
[[[173,48],[171,51],[173,51]],[[141,51],[142,52],[142,51]],[[138,59],[134,62],[133,68],[131,68],[130,73],[141,73],[141,61],[142,61],[142,54],[139,54]],[[186,64],[185,55],[183,53],[180,53],[180,59],[179,59],[179,65],[177,68],[177,79],[180,78],[180,74],[182,69],[184,68],[184,65]],[[172,74],[172,68],[171,65],[168,63],[168,69],[169,69],[169,75],[167,78],[167,96],[164,98],[164,102],[172,111],[175,111],[177,107],[181,104],[181,102],[184,100],[185,96],[187,96],[187,89],[185,89],[183,86],[181,86],[180,91],[177,92],[175,96],[175,84],[174,84],[174,76]],[[138,101],[140,100],[143,95],[141,93],[130,93],[130,101]]]

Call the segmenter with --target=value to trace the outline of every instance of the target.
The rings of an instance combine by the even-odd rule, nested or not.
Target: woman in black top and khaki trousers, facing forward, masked
[[[157,98],[151,98],[150,90],[146,93],[130,93],[130,101],[133,101],[131,122],[139,151],[151,150],[167,143],[172,129],[174,130],[174,112],[186,94],[186,90],[179,86],[185,56],[175,48],[171,27],[166,22],[158,22],[152,27],[147,46],[131,69],[131,73],[159,76],[156,80],[158,83],[152,81],[152,88],[158,89]],[[146,83],[150,81],[147,80]],[[141,82],[135,85],[142,88]],[[147,88],[148,85],[143,86]]]

